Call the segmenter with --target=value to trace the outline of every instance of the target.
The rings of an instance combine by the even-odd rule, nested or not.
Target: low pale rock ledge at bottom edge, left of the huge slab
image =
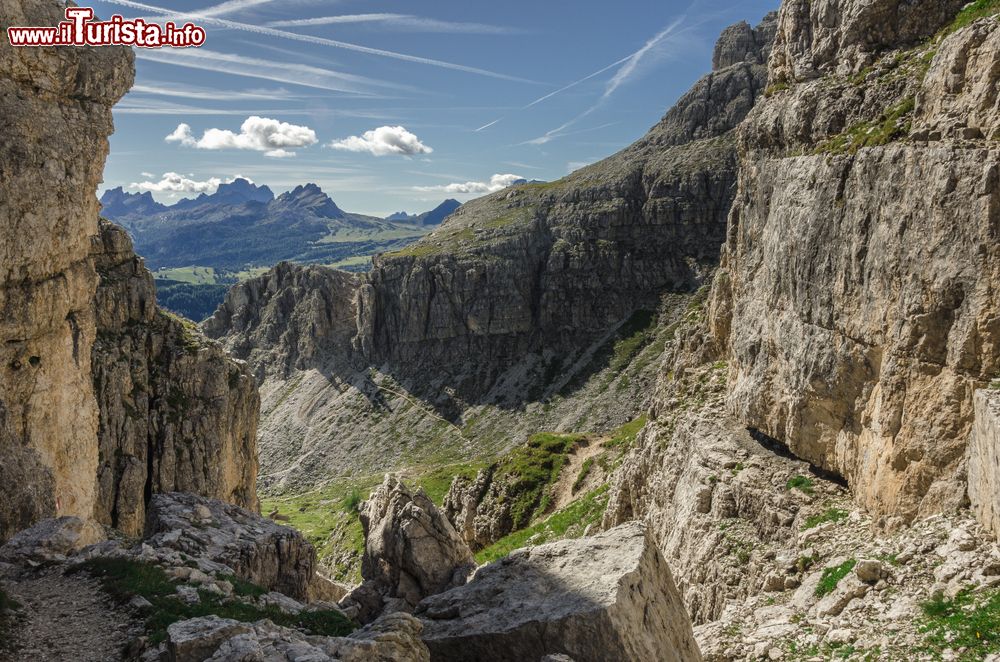
[[[181,621],[167,631],[169,662],[258,660],[284,662],[429,662],[421,625],[389,614],[347,637],[304,635],[270,621],[240,623],[218,616]]]

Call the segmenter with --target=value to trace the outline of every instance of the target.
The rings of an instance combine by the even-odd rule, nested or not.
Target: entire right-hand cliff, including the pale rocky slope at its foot
[[[993,519],[991,442],[968,440],[975,414],[991,434],[973,394],[1000,367],[1000,21],[961,5],[782,6],[704,318],[675,334],[605,516],[650,522],[698,622],[797,586],[775,550],[808,556],[806,531],[847,515],[814,510],[821,478],[885,528],[961,506],[968,466]]]

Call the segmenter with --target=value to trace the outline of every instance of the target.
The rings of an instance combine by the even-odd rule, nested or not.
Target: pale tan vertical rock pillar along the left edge
[[[0,24],[54,25],[55,0],[6,0]],[[0,540],[94,509],[90,236],[124,48],[12,48],[0,36]]]

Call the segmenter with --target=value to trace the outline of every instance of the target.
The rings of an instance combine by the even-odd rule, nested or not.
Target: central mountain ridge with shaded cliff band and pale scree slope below
[[[717,70],[602,162],[463,205],[367,276],[280,265],[234,288],[204,326],[261,381],[265,488],[638,417],[717,264],[733,128],[763,94],[775,25],[728,31]]]

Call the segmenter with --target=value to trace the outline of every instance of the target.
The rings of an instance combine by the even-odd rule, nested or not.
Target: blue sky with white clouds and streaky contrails
[[[276,194],[316,182],[384,216],[558,179],[642,136],[709,70],[725,26],[777,4],[100,0],[102,18],[208,33],[137,53],[104,187],[169,203],[237,175]]]

